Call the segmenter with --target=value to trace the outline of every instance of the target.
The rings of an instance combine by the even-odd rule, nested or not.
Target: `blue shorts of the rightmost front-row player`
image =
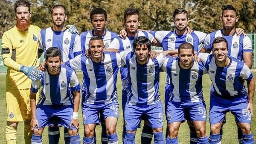
[[[227,99],[225,99],[227,101]],[[210,111],[209,111],[209,121],[210,124],[218,124],[225,119],[227,112],[231,112],[236,121],[239,123],[251,123],[251,113],[250,111],[246,113],[248,102],[237,102],[235,104],[226,104],[221,101],[221,98],[211,95],[210,100]]]

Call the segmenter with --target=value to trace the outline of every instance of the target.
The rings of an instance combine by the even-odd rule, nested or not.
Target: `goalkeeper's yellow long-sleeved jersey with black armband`
[[[38,34],[40,28],[30,25],[27,31],[16,26],[3,33],[2,57],[10,57],[20,65],[27,67],[38,64]],[[31,80],[21,72],[7,69],[6,89],[27,89],[31,87]]]

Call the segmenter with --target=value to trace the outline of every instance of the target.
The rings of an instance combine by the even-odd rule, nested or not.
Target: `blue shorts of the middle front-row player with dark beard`
[[[125,105],[125,127],[126,130],[137,130],[141,118],[146,115],[152,128],[163,127],[163,104],[157,102],[154,105]]]

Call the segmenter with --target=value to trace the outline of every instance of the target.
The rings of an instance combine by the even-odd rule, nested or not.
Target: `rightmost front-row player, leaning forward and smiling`
[[[199,57],[212,81],[209,121],[210,144],[221,142],[220,129],[228,111],[235,116],[242,130],[242,143],[253,144],[251,118],[253,116],[254,79],[244,62],[228,56],[229,44],[223,37],[212,41],[211,55],[200,53]],[[247,81],[248,93],[241,80]]]

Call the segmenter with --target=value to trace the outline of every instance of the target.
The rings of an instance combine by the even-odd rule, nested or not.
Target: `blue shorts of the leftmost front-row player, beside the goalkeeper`
[[[75,126],[71,126],[71,116],[73,115],[73,105],[68,106],[51,106],[37,104],[36,107],[36,119],[38,120],[39,128],[46,126],[64,126],[68,129],[76,129]],[[54,120],[53,120],[53,119]],[[35,128],[37,129],[37,127]]]

